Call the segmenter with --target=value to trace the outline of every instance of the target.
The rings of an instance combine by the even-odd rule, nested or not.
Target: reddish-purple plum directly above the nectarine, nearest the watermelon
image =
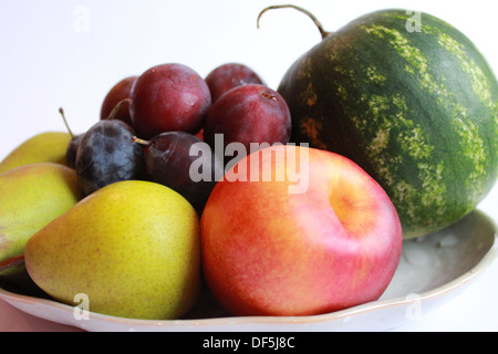
[[[291,116],[282,96],[268,86],[247,84],[224,94],[209,110],[204,123],[204,140],[215,148],[215,134],[224,134],[225,147],[241,143],[287,144]]]

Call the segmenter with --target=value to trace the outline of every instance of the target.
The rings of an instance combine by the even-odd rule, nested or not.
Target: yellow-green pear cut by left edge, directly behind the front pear
[[[30,164],[0,174],[0,263],[21,256],[31,236],[81,198],[74,169],[60,164]]]

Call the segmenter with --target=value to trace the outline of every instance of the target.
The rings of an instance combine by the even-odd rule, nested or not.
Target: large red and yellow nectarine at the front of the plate
[[[269,149],[307,149],[309,188],[289,194],[289,179],[216,185],[201,217],[201,249],[217,300],[236,315],[313,315],[377,300],[403,241],[387,195],[343,156],[297,146]],[[253,158],[261,175],[295,168],[263,152],[227,175],[239,166],[250,175]]]

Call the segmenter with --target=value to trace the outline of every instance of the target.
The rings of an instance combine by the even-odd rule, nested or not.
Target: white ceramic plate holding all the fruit
[[[497,228],[476,210],[444,231],[405,241],[390,287],[378,301],[314,316],[228,316],[208,292],[187,319],[132,320],[89,313],[0,288],[0,298],[34,316],[87,331],[385,331],[460,294],[497,258]],[[75,315],[76,313],[76,315]]]

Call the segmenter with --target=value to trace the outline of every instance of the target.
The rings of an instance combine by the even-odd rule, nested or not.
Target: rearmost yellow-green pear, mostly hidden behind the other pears
[[[62,132],[38,134],[19,145],[0,163],[0,174],[34,163],[65,165],[65,153],[71,138],[71,134]]]

